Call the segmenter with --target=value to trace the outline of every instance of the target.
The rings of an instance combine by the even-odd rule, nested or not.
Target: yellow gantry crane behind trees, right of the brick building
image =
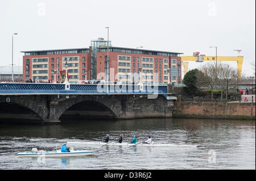
[[[243,64],[243,56],[240,56],[241,50],[238,51],[237,57],[218,57],[217,61],[237,61],[237,73],[239,77],[242,72],[242,64]],[[184,66],[184,75],[188,71],[188,62],[185,61],[196,61],[196,62],[204,62],[204,61],[216,61],[216,56],[205,56],[199,55],[199,52],[194,52],[193,56],[181,56],[181,66]]]

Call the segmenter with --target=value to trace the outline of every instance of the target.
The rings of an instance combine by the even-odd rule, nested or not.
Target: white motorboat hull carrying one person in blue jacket
[[[98,151],[76,150],[70,152],[45,151],[42,153],[23,152],[18,153],[18,157],[81,157],[85,155],[95,155]]]

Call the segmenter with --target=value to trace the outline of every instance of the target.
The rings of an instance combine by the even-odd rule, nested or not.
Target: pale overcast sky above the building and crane
[[[116,47],[166,50],[192,56],[237,56],[242,73],[253,74],[255,1],[10,0],[0,2],[0,66],[22,65],[22,50],[88,48],[107,37]],[[200,63],[189,62],[189,69]],[[230,65],[236,67],[236,62]]]

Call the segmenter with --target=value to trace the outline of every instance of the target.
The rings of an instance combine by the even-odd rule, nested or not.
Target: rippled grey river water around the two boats
[[[137,134],[138,141],[200,145],[199,148],[74,146],[99,150],[75,158],[18,158],[32,148],[60,149],[67,141],[110,140]],[[255,169],[255,120],[138,119],[69,121],[57,125],[0,124],[0,169]]]

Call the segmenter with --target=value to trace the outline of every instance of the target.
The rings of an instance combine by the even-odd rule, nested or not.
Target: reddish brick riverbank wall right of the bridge
[[[255,103],[176,101],[173,117],[255,120]]]

